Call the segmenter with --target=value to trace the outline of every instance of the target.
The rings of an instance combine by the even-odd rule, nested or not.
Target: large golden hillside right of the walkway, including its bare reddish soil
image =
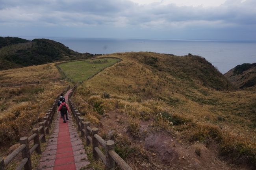
[[[234,91],[199,56],[108,56],[122,61],[80,85],[72,100],[134,169],[253,169],[255,93]]]

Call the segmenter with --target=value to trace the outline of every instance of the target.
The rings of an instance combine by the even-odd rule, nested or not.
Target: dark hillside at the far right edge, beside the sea
[[[224,74],[234,87],[256,89],[256,63],[237,65]]]

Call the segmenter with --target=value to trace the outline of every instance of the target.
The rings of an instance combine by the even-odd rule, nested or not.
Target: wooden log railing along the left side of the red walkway
[[[70,89],[70,86],[66,87],[62,94],[65,94]],[[53,105],[46,113],[44,117],[44,121],[39,123],[38,128],[34,128],[32,130],[32,135],[30,137],[21,137],[20,138],[20,146],[15,149],[12,153],[10,153],[5,159],[3,157],[0,158],[0,170],[5,170],[6,166],[21,152],[22,161],[17,166],[16,170],[32,170],[32,163],[30,159],[30,155],[35,151],[37,154],[41,154],[41,142],[46,142],[45,136],[49,134],[49,128],[51,127],[54,114],[56,113],[57,103],[59,100],[59,96],[56,96]],[[30,141],[33,140],[33,145],[30,148]]]

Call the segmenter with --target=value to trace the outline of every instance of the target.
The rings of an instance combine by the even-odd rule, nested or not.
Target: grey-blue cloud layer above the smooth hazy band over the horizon
[[[112,26],[177,30],[256,28],[256,1],[227,0],[217,7],[147,5],[129,0],[0,0],[0,26]],[[0,28],[1,30],[1,28]]]

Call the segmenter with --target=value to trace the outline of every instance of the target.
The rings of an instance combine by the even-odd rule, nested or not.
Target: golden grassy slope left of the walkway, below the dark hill
[[[0,71],[1,84],[40,81],[39,85],[0,89],[1,144],[14,144],[43,120],[54,101],[49,96],[56,96],[67,85],[65,81],[54,81],[59,77],[54,63]]]

